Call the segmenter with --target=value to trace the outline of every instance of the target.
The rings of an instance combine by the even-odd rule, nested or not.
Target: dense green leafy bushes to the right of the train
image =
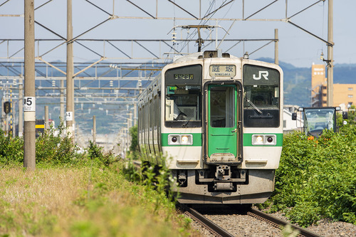
[[[286,135],[271,211],[309,226],[321,218],[356,224],[356,127],[325,131],[319,139]]]

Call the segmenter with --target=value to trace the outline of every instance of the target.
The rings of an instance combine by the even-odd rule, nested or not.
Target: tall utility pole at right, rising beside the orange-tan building
[[[333,106],[333,92],[334,92],[334,39],[333,39],[333,31],[334,31],[334,24],[333,24],[333,0],[329,0],[328,6],[328,82],[327,82],[327,91],[326,96],[327,100],[326,103],[328,106]]]

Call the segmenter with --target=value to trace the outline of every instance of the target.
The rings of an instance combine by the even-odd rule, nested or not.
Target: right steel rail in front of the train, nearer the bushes
[[[257,209],[250,209],[247,214],[249,216],[253,216],[255,218],[261,219],[263,221],[266,221],[267,223],[270,223],[272,226],[275,226],[277,228],[284,228],[285,226],[292,226],[294,229],[299,231],[299,236],[305,236],[305,237],[322,237],[318,235],[317,233],[313,233],[311,231],[306,230],[305,228],[301,228],[299,226],[295,226],[292,223],[289,223],[287,221],[283,221],[280,218],[276,218],[275,216],[271,216],[269,214],[266,214],[262,211],[258,211]]]

